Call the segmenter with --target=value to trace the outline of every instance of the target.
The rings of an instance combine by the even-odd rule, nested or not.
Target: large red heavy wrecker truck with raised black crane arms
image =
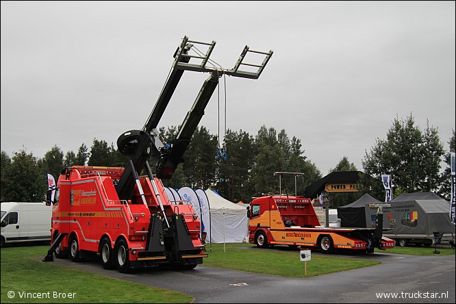
[[[273,51],[244,47],[232,69],[207,67],[216,42],[188,40],[174,54],[173,67],[147,123],[141,130],[126,131],[117,140],[127,155],[125,167],[71,166],[64,168],[56,185],[49,177],[47,205],[53,205],[51,247],[44,261],[70,257],[78,261],[99,255],[103,268],[129,272],[134,268],[170,264],[192,269],[203,262],[201,218],[192,205],[170,201],[161,179],[170,179],[183,162],[183,154],[204,114],[222,75],[257,79]],[[203,53],[197,49],[206,48]],[[197,55],[190,54],[197,50]],[[244,63],[247,53],[264,56],[260,64]],[[257,57],[258,58],[258,57]],[[196,60],[196,62],[194,62]],[[255,66],[244,71],[241,65]],[[209,73],[197,99],[171,144],[164,144],[157,125],[183,71]],[[132,105],[134,112],[134,105]],[[138,111],[137,111],[138,112]],[[155,165],[151,169],[149,160]],[[145,172],[147,175],[139,176]]]

